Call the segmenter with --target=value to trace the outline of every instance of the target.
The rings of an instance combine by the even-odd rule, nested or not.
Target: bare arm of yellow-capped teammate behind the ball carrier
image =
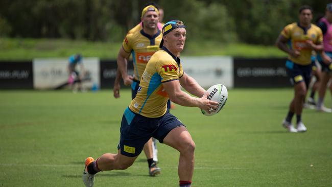
[[[128,67],[128,57],[130,53],[127,53],[123,47],[121,46],[120,51],[117,54],[117,68],[119,69],[122,79],[124,80],[124,84],[129,86],[133,82],[133,77],[128,75],[127,67]]]

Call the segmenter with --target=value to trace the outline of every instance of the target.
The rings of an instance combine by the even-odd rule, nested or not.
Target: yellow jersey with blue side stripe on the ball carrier
[[[130,110],[148,118],[164,115],[169,96],[162,83],[178,80],[183,74],[180,59],[163,46],[147,64],[137,95],[129,105]]]

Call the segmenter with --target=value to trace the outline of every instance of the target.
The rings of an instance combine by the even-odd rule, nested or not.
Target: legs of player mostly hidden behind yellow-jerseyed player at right
[[[313,83],[313,85],[311,87],[311,93],[310,93],[309,97],[307,98],[307,101],[304,102],[303,106],[305,108],[315,109],[316,108],[315,93],[316,93],[316,90],[318,90],[320,79],[321,79],[321,71],[320,71],[320,68],[317,67],[317,64],[316,64],[316,53],[311,55],[311,65],[312,65],[312,69],[313,69],[312,78],[315,77],[315,82]]]

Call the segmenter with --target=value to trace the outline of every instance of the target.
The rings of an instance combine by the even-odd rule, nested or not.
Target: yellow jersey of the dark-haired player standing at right
[[[300,52],[300,56],[294,58],[289,55],[288,59],[299,65],[311,64],[312,49],[306,44],[307,40],[312,40],[318,44],[323,41],[323,34],[319,27],[311,24],[309,28],[302,28],[297,22],[290,24],[281,31],[281,35],[291,41],[291,48]]]

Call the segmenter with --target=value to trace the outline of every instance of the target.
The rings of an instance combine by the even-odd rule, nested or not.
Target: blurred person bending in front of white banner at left
[[[76,69],[76,66],[80,64],[81,73],[84,74],[84,66],[82,62],[82,55],[75,54],[69,57],[68,59],[68,83],[73,91],[75,91],[75,82],[78,83],[78,90],[82,90],[82,79],[79,72]]]

